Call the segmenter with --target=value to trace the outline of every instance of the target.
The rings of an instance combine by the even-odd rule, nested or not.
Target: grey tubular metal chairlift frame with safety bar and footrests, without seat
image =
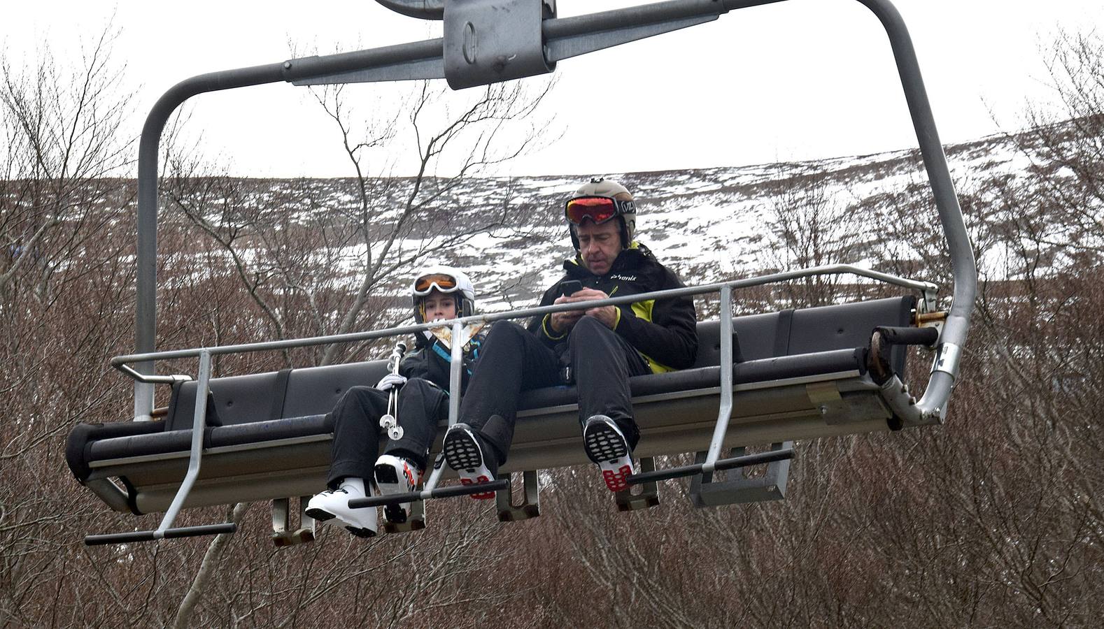
[[[205,415],[205,392],[210,380],[211,358],[215,354],[267,351],[307,347],[332,342],[376,339],[407,334],[426,329],[428,324],[407,326],[332,337],[251,343],[223,348],[202,348],[169,352],[155,351],[156,288],[157,288],[157,213],[158,213],[158,154],[161,134],[169,117],[192,96],[209,92],[262,85],[284,81],[294,85],[446,78],[453,88],[522,78],[554,71],[556,62],[588,52],[645,39],[656,34],[683,29],[716,20],[721,14],[736,9],[771,4],[782,0],[670,0],[573,18],[556,18],[554,0],[378,0],[401,13],[444,20],[445,35],[433,40],[326,56],[293,58],[280,63],[202,74],[188,78],[168,92],[155,104],[142,128],[138,151],[138,246],[137,246],[137,307],[136,350],[127,356],[113,359],[112,364],[131,376],[135,383],[135,420],[149,420],[153,409],[153,385],[172,384],[179,375],[157,375],[156,360],[194,356],[199,359],[199,386],[189,469],[176,498],[156,531],[108,535],[89,535],[87,543],[117,543],[159,540],[177,536],[230,532],[232,523],[174,529],[176,516],[199,475],[203,454],[202,434]],[[938,424],[946,416],[947,402],[958,376],[962,348],[969,330],[970,311],[977,291],[977,270],[962,209],[955,194],[946,157],[940,143],[920,66],[912,40],[900,13],[889,0],[858,0],[870,9],[885,28],[896,61],[905,99],[927,172],[940,222],[947,241],[953,274],[953,295],[949,311],[935,343],[935,361],[923,396],[914,399],[895,377],[887,383],[882,394],[894,414],[905,419],[905,425]],[[819,274],[853,273],[869,278],[906,286],[922,292],[927,310],[934,309],[935,286],[904,278],[870,271],[850,265],[834,265],[804,270],[773,274],[747,280],[720,282],[702,287],[688,287],[625,298],[612,298],[601,303],[628,303],[630,301],[721,292],[722,361],[721,412],[714,437],[704,461],[679,470],[658,470],[637,475],[636,480],[656,480],[672,476],[710,476],[713,471],[733,466],[732,459],[720,460],[720,450],[732,404],[732,342],[731,291],[735,288],[784,281]],[[596,303],[592,303],[592,307]],[[521,310],[512,313],[469,317],[457,320],[459,326],[477,320],[492,321],[521,318],[539,313],[571,310],[570,306]],[[458,345],[458,344],[457,344]],[[458,352],[454,348],[454,353]],[[458,391],[459,361],[453,362],[452,385]],[[729,386],[724,386],[724,382]],[[456,420],[459,396],[453,395],[449,422]],[[736,461],[739,462],[739,461]],[[647,476],[650,475],[650,476]],[[463,488],[437,489],[440,468],[435,470],[424,498],[444,493],[458,493]],[[496,481],[508,484],[508,481]],[[487,489],[487,488],[485,488]],[[500,489],[500,488],[499,488]],[[372,500],[372,499],[367,499]]]

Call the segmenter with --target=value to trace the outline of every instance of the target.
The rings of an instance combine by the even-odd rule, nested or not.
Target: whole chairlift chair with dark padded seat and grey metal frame
[[[157,157],[161,131],[188,98],[208,92],[286,81],[295,85],[445,78],[455,88],[487,85],[554,71],[556,62],[647,36],[701,24],[736,9],[781,0],[672,0],[573,18],[556,18],[553,0],[379,0],[404,14],[444,21],[444,36],[408,44],[204,74],[169,89],[142,130],[138,166],[137,352],[112,365],[135,381],[134,420],[81,424],[70,434],[66,458],[74,476],[118,512],[164,511],[153,531],[88,535],[88,544],[149,541],[225,533],[233,523],[173,527],[182,509],[270,500],[274,541],[312,539],[302,515],[291,531],[290,500],[326,483],[332,425],[326,414],[348,387],[373,383],[386,361],[272,373],[211,377],[213,356],[273,351],[410,334],[433,323],[388,330],[242,345],[156,351]],[[949,309],[936,307],[936,287],[851,265],[797,269],[692,286],[599,303],[628,303],[676,295],[719,292],[720,319],[698,324],[700,350],[688,370],[631,379],[640,427],[636,455],[641,471],[630,482],[643,491],[617,494],[618,508],[658,503],[657,482],[692,477],[698,507],[784,495],[792,444],[837,435],[941,424],[957,379],[969,327],[977,274],[962,210],[924,90],[907,31],[888,0],[859,0],[881,20],[890,39],[912,114],[924,167],[947,241],[953,270]],[[503,21],[506,23],[503,23]],[[900,297],[733,317],[740,288],[810,275],[854,274],[907,290]],[[597,303],[591,302],[591,306]],[[524,318],[571,305],[477,314],[453,322],[454,338],[477,321]],[[459,409],[459,343],[454,361],[448,423]],[[902,383],[905,348],[934,351],[927,385],[917,399]],[[194,379],[157,374],[156,361],[197,359]],[[171,387],[163,416],[153,417],[153,387]],[[440,433],[447,426],[440,426]],[[753,455],[721,458],[725,448],[767,445]],[[439,436],[435,449],[439,449]],[[656,469],[655,457],[697,452],[689,466]],[[537,470],[588,462],[578,434],[574,387],[527,392],[519,411],[506,478],[491,483],[501,520],[539,514]],[[715,472],[768,463],[763,478],[714,480]],[[437,466],[414,495],[374,497],[352,507],[414,502],[414,516],[386,531],[424,525],[424,500],[486,491],[488,487],[438,487]],[[510,475],[521,473],[522,495]],[[302,501],[305,503],[305,501]]]

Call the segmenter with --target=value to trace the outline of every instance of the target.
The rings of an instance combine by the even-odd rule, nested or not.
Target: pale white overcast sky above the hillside
[[[560,17],[627,7],[561,0]],[[1098,1],[898,0],[944,143],[1020,122],[1027,99],[1050,98],[1041,47],[1059,29],[1104,25]],[[309,11],[307,9],[309,8]],[[114,18],[113,18],[114,14]],[[152,103],[187,77],[279,62],[290,45],[321,53],[439,36],[439,23],[372,0],[246,2],[118,0],[6,2],[4,55],[17,65],[43,43],[76,60],[112,21],[114,55],[136,90],[137,135]],[[588,174],[743,166],[915,146],[889,43],[854,0],[788,0],[559,64],[543,106],[562,138],[496,174]],[[543,81],[543,79],[542,79]],[[365,114],[400,89],[349,89]],[[203,150],[252,177],[351,174],[332,122],[301,87],[276,84],[190,102]],[[995,122],[992,116],[997,117]],[[393,114],[392,114],[393,115]],[[394,169],[408,172],[396,152]],[[382,162],[370,167],[382,172]]]

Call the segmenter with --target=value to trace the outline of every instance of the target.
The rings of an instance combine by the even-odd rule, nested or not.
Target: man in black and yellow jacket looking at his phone
[[[584,303],[682,286],[636,237],[636,204],[624,185],[593,179],[564,205],[575,256],[541,306]],[[535,318],[528,330],[495,326],[445,435],[449,467],[465,484],[495,480],[513,439],[522,391],[575,384],[587,457],[612,491],[628,488],[639,431],[629,376],[693,364],[698,352],[693,299],[646,300]],[[493,492],[473,494],[492,498]]]

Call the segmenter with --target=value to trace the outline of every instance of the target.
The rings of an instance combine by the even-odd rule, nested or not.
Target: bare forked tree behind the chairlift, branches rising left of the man
[[[173,177],[166,193],[171,205],[222,252],[250,301],[267,321],[269,337],[333,334],[393,324],[408,311],[401,307],[396,314],[389,290],[396,280],[406,279],[408,268],[431,255],[446,255],[478,234],[510,227],[518,220],[508,196],[497,211],[495,204],[471,209],[461,185],[481,169],[517,157],[537,140],[535,131],[510,140],[503,130],[532,116],[548,86],[533,95],[519,84],[488,87],[439,121],[440,114],[433,109],[439,107],[443,94],[423,83],[410,99],[408,114],[382,116],[368,125],[353,119],[344,89],[333,86],[314,94],[332,119],[355,174],[341,182],[346,189],[351,184],[353,191],[353,201],[346,205],[322,204],[329,192],[321,189],[326,182],[299,180],[273,190],[272,182],[195,177],[194,157],[170,153]],[[415,138],[416,174],[371,177],[368,153],[390,148],[403,130],[400,120],[405,120]],[[450,177],[436,177],[448,151],[460,152],[459,166]],[[510,194],[510,188],[502,193]],[[210,250],[209,255],[216,254]],[[340,349],[335,345],[304,358],[329,364]],[[293,362],[290,352],[285,353],[285,360]],[[242,511],[235,508],[234,514],[241,518]],[[209,547],[178,610],[178,626],[192,617],[224,543],[220,536]],[[468,546],[461,544],[453,552],[466,552]],[[308,599],[304,605],[311,603]],[[406,603],[404,614],[456,604],[442,600],[434,591],[423,591],[421,603]]]

